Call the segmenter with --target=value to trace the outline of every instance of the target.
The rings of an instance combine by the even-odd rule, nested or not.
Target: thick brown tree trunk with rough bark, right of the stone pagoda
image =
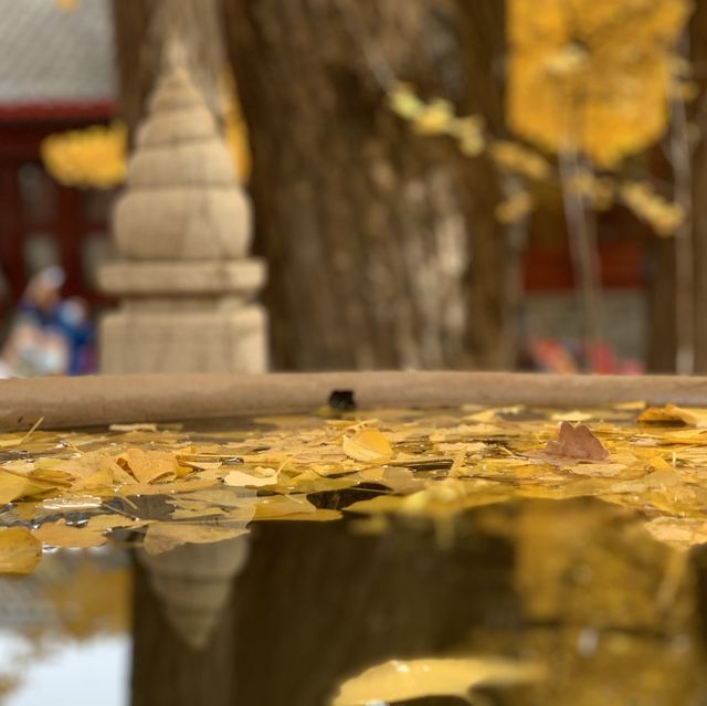
[[[425,98],[465,102],[451,7],[224,3],[275,366],[497,367],[504,242],[493,170],[414,134],[386,101],[397,77]],[[492,77],[477,69],[467,80]]]

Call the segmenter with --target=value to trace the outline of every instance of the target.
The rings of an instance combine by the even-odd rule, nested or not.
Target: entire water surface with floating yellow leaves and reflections
[[[6,702],[703,704],[703,432],[582,411],[606,454],[558,457],[564,417],[38,432],[1,464],[0,566],[42,550],[0,579]]]

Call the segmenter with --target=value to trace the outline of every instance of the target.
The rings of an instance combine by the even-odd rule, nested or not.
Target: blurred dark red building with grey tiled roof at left
[[[65,129],[106,122],[115,108],[109,0],[71,11],[54,0],[0,0],[0,302],[17,302],[50,264],[66,295],[97,301],[95,264],[109,255],[110,194],[56,183],[40,145]]]

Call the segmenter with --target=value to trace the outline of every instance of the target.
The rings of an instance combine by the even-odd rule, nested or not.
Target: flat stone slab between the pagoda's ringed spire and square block
[[[257,259],[231,262],[106,263],[98,271],[101,289],[115,296],[190,296],[199,294],[251,294],[265,284],[265,264]]]

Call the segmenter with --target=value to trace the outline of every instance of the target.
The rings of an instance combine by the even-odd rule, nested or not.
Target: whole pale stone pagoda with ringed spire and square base
[[[98,273],[120,302],[101,322],[101,371],[263,371],[265,268],[247,257],[251,230],[214,116],[183,63],[168,62],[113,217],[120,259]]]

